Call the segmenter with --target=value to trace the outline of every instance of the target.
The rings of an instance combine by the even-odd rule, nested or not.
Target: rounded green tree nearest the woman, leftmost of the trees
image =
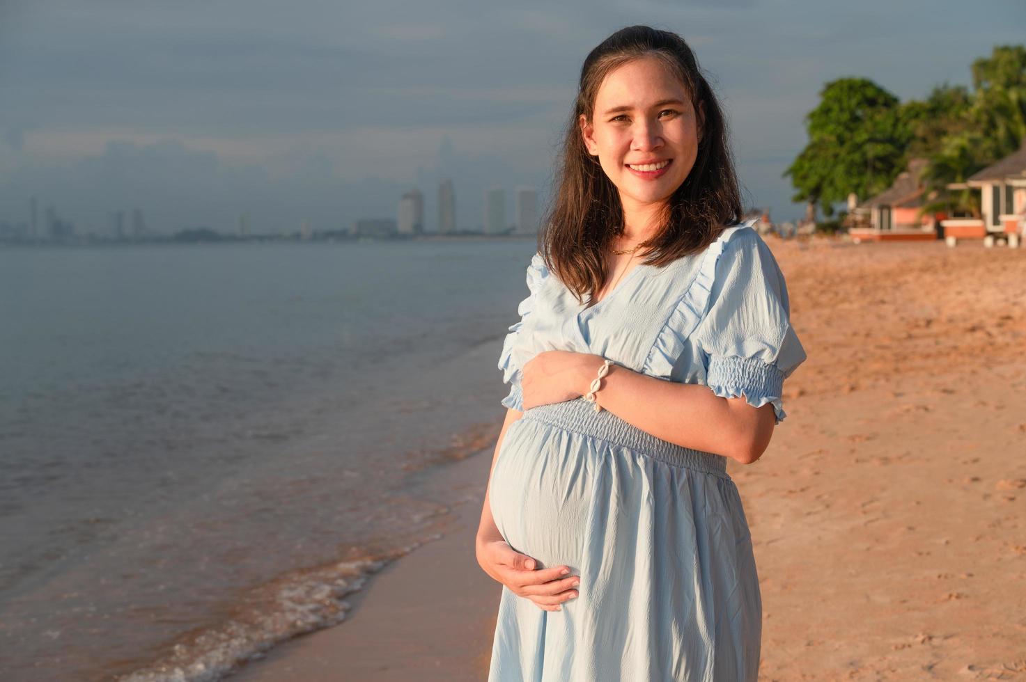
[[[784,171],[805,201],[833,215],[854,192],[865,198],[886,189],[904,165],[910,138],[898,97],[865,78],[827,83],[805,117],[808,144]]]

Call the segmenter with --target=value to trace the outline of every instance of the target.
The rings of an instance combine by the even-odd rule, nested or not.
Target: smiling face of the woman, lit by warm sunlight
[[[625,210],[665,202],[687,177],[701,137],[690,102],[684,84],[654,56],[632,59],[602,81],[581,132]]]

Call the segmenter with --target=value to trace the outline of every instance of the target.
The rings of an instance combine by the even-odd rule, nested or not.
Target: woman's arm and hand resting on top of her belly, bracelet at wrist
[[[602,360],[568,351],[536,355],[523,367],[524,408],[588,393]],[[770,403],[752,407],[741,397],[720,398],[706,386],[667,382],[621,365],[609,368],[595,396],[603,409],[657,438],[745,465],[762,456],[776,424]]]

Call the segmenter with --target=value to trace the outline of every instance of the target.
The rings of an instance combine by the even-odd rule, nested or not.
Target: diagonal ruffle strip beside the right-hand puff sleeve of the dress
[[[716,279],[716,264],[719,262],[723,248],[739,230],[751,227],[757,219],[752,218],[747,223],[726,228],[716,238],[716,241],[709,245],[702,258],[698,274],[679,303],[674,306],[669,319],[663,325],[663,330],[660,331],[655,345],[648,351],[648,357],[642,370],[645,374],[670,379],[673,365],[680,358],[680,354],[684,352],[687,337],[702,322],[709,307],[709,294],[712,292],[712,284]]]

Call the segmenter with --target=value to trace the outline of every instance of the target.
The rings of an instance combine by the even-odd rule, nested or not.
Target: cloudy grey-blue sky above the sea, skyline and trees
[[[0,222],[29,198],[80,233],[116,210],[170,234],[347,229],[451,177],[460,228],[488,187],[536,187],[588,52],[614,31],[679,33],[726,112],[749,206],[802,206],[783,177],[830,80],[902,101],[971,82],[1026,42],[1026,2],[984,0],[0,0]]]

